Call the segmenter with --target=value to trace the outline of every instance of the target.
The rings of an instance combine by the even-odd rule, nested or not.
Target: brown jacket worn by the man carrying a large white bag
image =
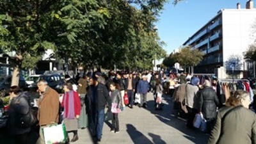
[[[59,121],[60,95],[52,88],[47,88],[44,96],[38,100],[39,125],[49,125]]]

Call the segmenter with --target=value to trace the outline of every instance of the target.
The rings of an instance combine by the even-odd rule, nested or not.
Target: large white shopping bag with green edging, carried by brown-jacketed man
[[[67,140],[67,131],[64,124],[50,125],[43,128],[45,144],[65,143]]]

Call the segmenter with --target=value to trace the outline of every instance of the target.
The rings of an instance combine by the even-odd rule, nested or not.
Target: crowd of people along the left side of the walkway
[[[163,74],[163,73],[162,73]],[[19,86],[10,88],[10,108],[8,112],[8,131],[16,143],[28,143],[32,125],[39,125],[38,141],[45,143],[43,129],[52,124],[65,124],[67,133],[73,133],[70,139],[67,134],[67,143],[79,140],[77,129],[89,127],[95,141],[101,141],[106,109],[112,113],[111,132],[119,133],[118,113],[125,108],[147,108],[147,94],[154,93],[156,110],[161,110],[163,94],[163,76],[153,72],[109,72],[102,74],[78,74],[76,77],[64,77],[63,94],[48,86],[47,81],[41,79],[37,86],[40,97],[36,99],[38,109],[30,115],[31,104],[29,94],[21,92]],[[140,99],[135,103],[135,95]],[[127,95],[128,103],[125,103]],[[113,110],[114,109],[114,110]],[[116,109],[116,110],[115,110]],[[17,120],[24,116],[36,117],[37,122],[29,120],[26,127],[17,126]],[[33,124],[30,124],[33,123]]]

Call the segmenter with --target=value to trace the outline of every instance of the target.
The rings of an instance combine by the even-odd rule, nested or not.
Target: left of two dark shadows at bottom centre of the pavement
[[[136,127],[134,127],[133,125],[127,124],[126,127],[126,131],[131,137],[131,140],[133,141],[134,144],[154,144],[150,140],[148,140],[148,138],[144,136],[144,134],[138,131]]]

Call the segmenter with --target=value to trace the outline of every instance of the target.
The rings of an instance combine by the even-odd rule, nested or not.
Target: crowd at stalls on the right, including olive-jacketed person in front
[[[218,85],[222,83],[216,77],[205,76],[202,79],[181,74],[171,76],[170,81],[172,78],[179,81],[173,83],[173,109],[177,116],[187,119],[188,129],[199,128],[195,127],[196,115],[202,116],[202,124],[206,127],[201,127],[201,124],[200,130],[209,135],[207,144],[256,142],[255,102],[248,84],[246,86],[242,80],[229,85],[223,83],[233,90],[220,86],[220,93]]]

